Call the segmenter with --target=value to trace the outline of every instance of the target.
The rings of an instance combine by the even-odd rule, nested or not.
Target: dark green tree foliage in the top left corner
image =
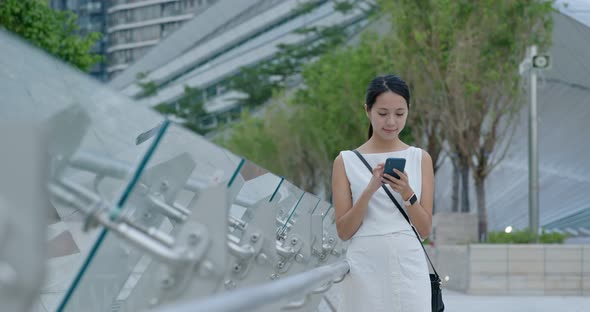
[[[77,17],[57,12],[41,0],[0,0],[0,25],[41,49],[88,71],[102,60],[89,53],[100,39],[99,33],[79,35]]]

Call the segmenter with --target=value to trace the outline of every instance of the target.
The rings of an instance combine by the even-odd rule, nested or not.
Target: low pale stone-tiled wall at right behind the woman
[[[590,295],[587,245],[438,246],[429,254],[448,289],[478,295]]]

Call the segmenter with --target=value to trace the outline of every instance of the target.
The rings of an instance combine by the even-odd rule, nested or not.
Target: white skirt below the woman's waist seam
[[[353,237],[338,312],[431,312],[424,251],[412,231]]]

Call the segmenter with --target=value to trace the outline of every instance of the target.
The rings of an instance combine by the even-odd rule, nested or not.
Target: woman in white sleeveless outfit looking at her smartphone
[[[390,188],[426,238],[432,225],[434,170],[428,153],[399,138],[410,111],[408,86],[393,75],[376,77],[367,89],[365,111],[371,122],[369,139],[357,151],[373,168],[372,175],[352,151],[338,155],[332,173],[338,236],[350,240],[350,274],[338,311],[430,312],[424,251],[381,187]],[[389,157],[406,159],[404,172],[395,170],[400,179],[383,173]]]

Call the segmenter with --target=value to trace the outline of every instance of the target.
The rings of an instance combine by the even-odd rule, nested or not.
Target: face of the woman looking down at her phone
[[[367,106],[365,104],[365,110]],[[373,126],[373,135],[385,140],[393,140],[399,136],[408,119],[406,100],[393,92],[379,95],[367,116]]]

